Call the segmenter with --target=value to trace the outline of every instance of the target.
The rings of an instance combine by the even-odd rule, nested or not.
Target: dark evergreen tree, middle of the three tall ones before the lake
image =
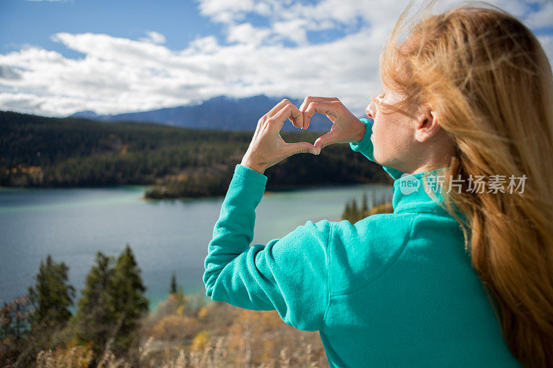
[[[104,350],[117,325],[113,273],[113,258],[98,251],[95,264],[86,275],[75,316],[77,338],[92,341],[97,353]]]

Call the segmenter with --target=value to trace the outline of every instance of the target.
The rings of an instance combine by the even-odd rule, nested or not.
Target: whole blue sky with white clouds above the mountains
[[[408,3],[0,0],[0,110],[117,114],[264,94],[337,97],[363,115]],[[553,61],[553,0],[489,3],[523,21]]]

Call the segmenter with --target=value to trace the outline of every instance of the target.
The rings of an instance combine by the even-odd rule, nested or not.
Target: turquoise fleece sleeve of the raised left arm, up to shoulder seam
[[[321,329],[328,305],[332,222],[306,222],[281,239],[253,244],[255,209],[267,177],[236,165],[205,259],[206,296],[252,310],[277,310],[288,325]]]

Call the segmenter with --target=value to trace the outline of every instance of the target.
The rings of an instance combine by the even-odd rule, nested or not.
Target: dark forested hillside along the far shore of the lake
[[[12,112],[0,112],[0,131],[1,186],[140,184],[152,186],[149,197],[224,195],[254,133]],[[313,143],[321,134],[281,136]],[[390,182],[382,168],[348,144],[288,157],[265,175],[268,190]]]

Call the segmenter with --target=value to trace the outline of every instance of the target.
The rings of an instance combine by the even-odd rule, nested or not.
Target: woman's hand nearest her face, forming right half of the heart
[[[336,97],[306,97],[303,104],[299,106],[303,113],[303,129],[309,127],[310,118],[315,113],[321,113],[332,121],[330,132],[315,141],[317,155],[325,146],[334,143],[359,143],[365,134],[366,126],[350,110],[344,106]]]

